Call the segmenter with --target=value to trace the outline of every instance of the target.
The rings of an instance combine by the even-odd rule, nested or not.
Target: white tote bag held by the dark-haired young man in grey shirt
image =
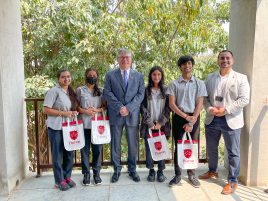
[[[188,136],[189,140],[186,140]],[[192,140],[190,133],[185,132],[182,140],[177,142],[178,165],[182,169],[198,167],[198,141]]]

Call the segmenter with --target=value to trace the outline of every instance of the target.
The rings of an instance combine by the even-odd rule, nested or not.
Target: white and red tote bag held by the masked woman
[[[108,116],[95,114],[91,119],[91,142],[92,144],[107,144],[111,141],[111,131]]]

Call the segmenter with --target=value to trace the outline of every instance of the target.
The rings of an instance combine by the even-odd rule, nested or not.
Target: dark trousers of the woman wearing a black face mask
[[[81,149],[82,174],[90,173],[90,145],[92,150],[93,174],[99,174],[101,169],[102,144],[91,143],[91,129],[84,129],[85,146]]]

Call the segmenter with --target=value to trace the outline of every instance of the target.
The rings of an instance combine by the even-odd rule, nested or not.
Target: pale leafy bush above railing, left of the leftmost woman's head
[[[26,97],[41,98],[55,83],[48,76],[35,75],[25,79]]]

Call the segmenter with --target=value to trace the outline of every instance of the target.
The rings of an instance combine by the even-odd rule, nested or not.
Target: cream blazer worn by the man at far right
[[[219,72],[214,72],[208,75],[205,84],[208,92],[208,97],[204,100],[204,106],[207,111],[205,124],[212,122],[214,115],[211,115],[209,107],[215,105],[215,96],[217,91]],[[227,111],[225,118],[228,126],[231,129],[238,129],[244,126],[243,107],[249,103],[250,87],[247,76],[235,71],[231,71],[225,94],[225,109]]]

